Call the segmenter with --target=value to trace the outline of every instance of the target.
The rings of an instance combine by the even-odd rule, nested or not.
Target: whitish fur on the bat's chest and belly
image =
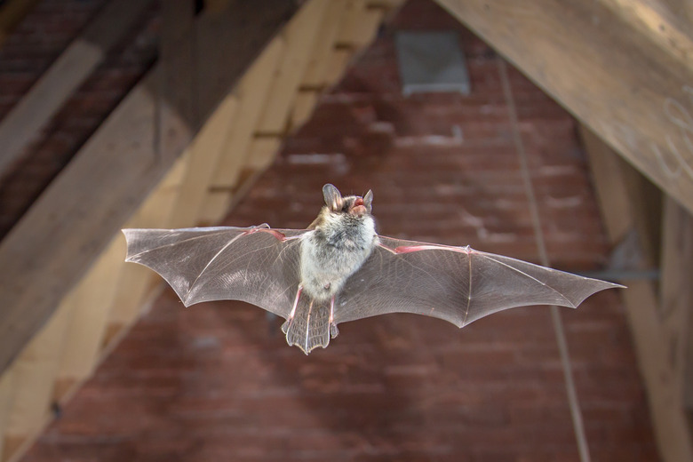
[[[375,222],[368,216],[354,222],[325,219],[301,243],[301,285],[317,300],[331,299],[344,286],[377,243]]]

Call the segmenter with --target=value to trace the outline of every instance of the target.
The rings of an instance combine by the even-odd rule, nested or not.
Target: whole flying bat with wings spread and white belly
[[[286,321],[290,346],[328,346],[339,323],[387,313],[433,316],[459,328],[513,307],[578,307],[623,287],[518,259],[376,233],[373,193],[325,205],[307,229],[123,229],[127,258],[163,276],[186,307],[234,299]]]

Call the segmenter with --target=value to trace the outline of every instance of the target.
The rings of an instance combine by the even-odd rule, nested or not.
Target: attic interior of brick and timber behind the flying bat
[[[684,0],[0,2],[0,462],[693,460],[693,7]],[[402,94],[398,33],[470,91]],[[183,308],[123,227],[378,233],[627,286],[306,356]],[[546,256],[546,257],[544,257]]]

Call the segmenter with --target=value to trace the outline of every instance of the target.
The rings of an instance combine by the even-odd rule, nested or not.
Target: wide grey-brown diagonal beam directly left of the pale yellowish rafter
[[[235,59],[226,60],[211,85],[225,82],[226,92],[296,8],[283,0],[254,8],[241,4],[227,23]],[[179,154],[156,155],[162,140],[154,121],[161,111],[173,110],[156,99],[157,72],[131,91],[0,243],[0,370],[44,325]],[[200,106],[204,119],[219,102],[206,101],[208,106]]]

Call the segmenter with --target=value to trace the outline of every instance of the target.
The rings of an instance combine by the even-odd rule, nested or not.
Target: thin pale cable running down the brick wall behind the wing
[[[507,65],[506,60],[502,58],[497,58],[498,60],[498,73],[500,74],[500,82],[503,86],[503,94],[506,99],[506,104],[508,107],[508,116],[510,118],[510,127],[513,132],[513,140],[515,145],[515,150],[520,160],[520,172],[522,174],[522,183],[524,184],[525,191],[527,193],[527,198],[530,202],[530,215],[532,219],[532,227],[534,228],[534,236],[537,241],[537,248],[539,252],[539,260],[542,265],[549,267],[551,262],[548,258],[548,252],[546,251],[546,240],[544,239],[544,233],[541,229],[541,220],[539,219],[539,210],[537,204],[537,195],[534,193],[534,187],[532,186],[532,181],[530,177],[530,167],[527,161],[527,153],[522,144],[522,137],[520,135],[520,128],[517,117],[517,108],[515,107],[513,91],[510,88],[510,80],[507,75]],[[554,325],[554,332],[556,335],[556,343],[558,344],[558,351],[561,356],[561,364],[563,369],[563,378],[565,379],[566,394],[568,395],[568,402],[570,405],[570,416],[573,421],[573,431],[575,432],[575,439],[578,443],[578,452],[580,455],[581,462],[590,462],[590,450],[587,443],[587,438],[585,436],[585,423],[582,418],[582,410],[580,410],[580,402],[578,399],[578,392],[575,386],[575,380],[573,378],[572,365],[570,362],[570,352],[568,350],[568,341],[565,337],[565,330],[563,329],[563,322],[561,318],[561,313],[558,311],[558,307],[552,306],[551,309],[551,320]]]

